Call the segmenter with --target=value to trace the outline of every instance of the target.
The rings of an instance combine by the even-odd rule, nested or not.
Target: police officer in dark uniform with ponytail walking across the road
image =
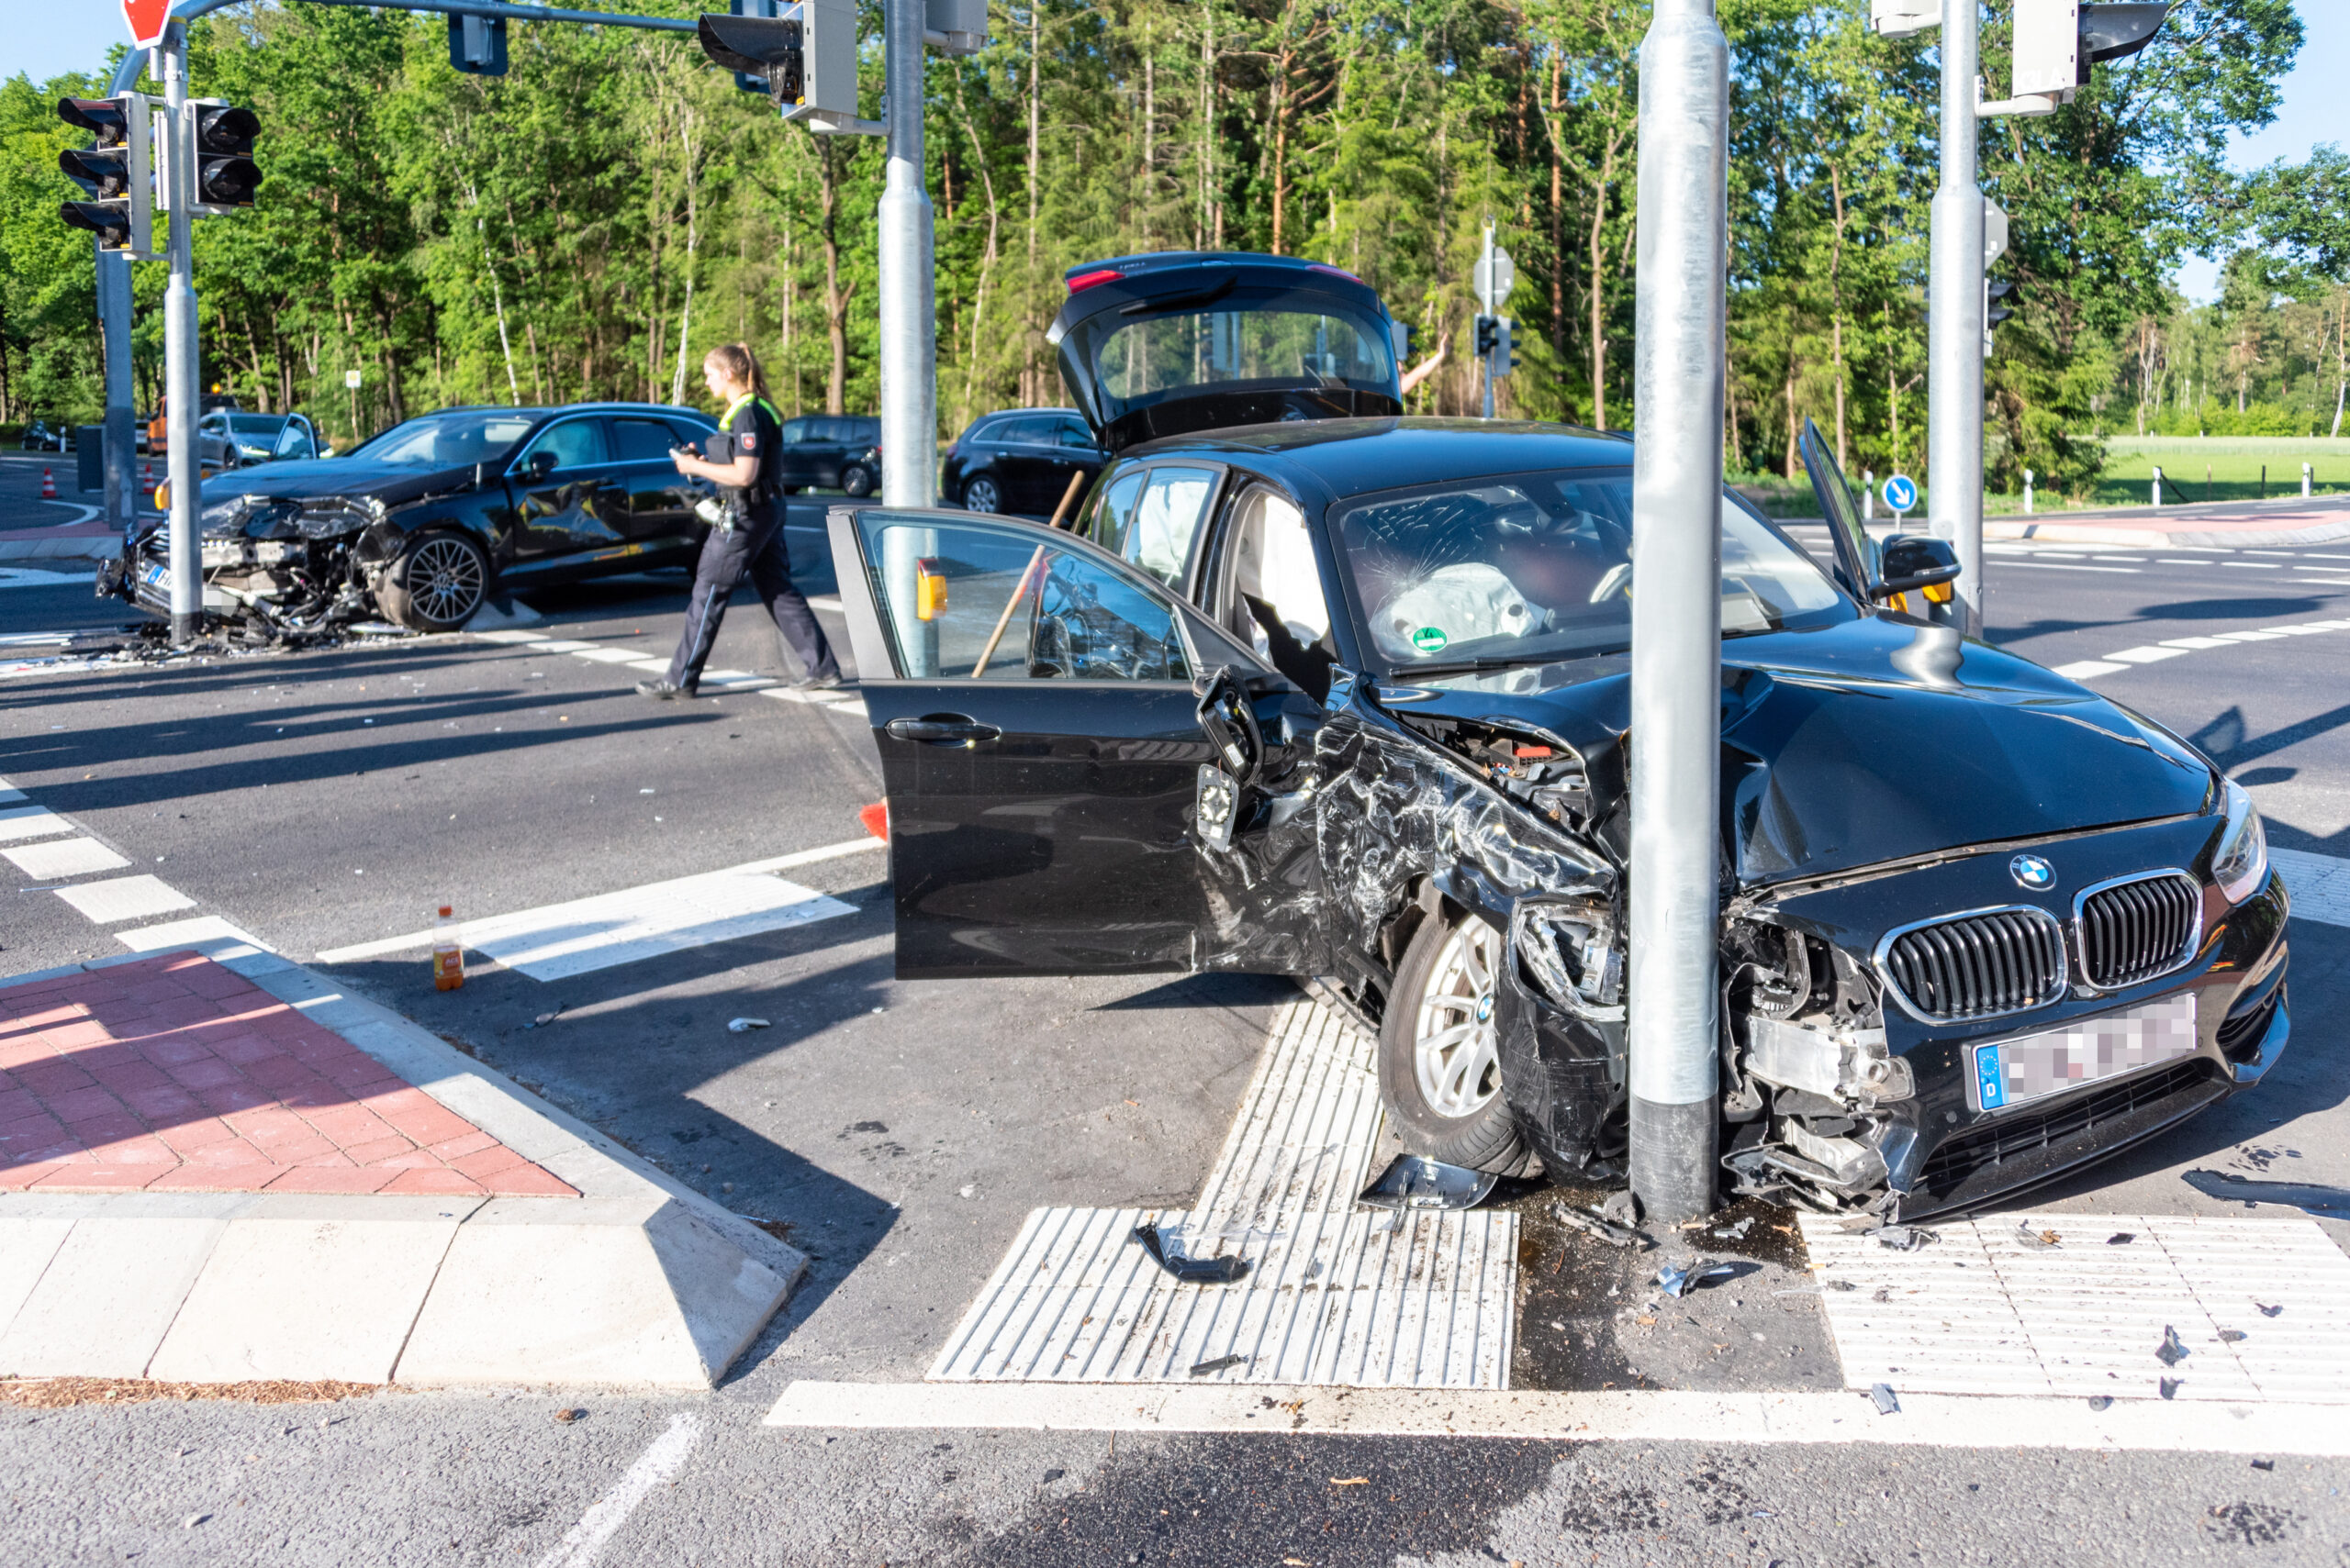
[[[703,359],[703,383],[726,401],[719,434],[705,441],[707,458],[674,448],[670,458],[679,474],[717,481],[724,505],[721,521],[703,540],[703,559],[693,568],[693,601],[677,655],[660,681],[639,681],[646,697],[691,697],[710,662],[710,646],[726,617],[726,601],[747,575],[766,613],[776,617],[776,636],[799,662],[792,685],[820,690],[841,683],[839,660],[825,641],[808,599],[792,587],[792,559],[783,542],[783,418],[766,394],[759,361],[743,343],[721,343]]]

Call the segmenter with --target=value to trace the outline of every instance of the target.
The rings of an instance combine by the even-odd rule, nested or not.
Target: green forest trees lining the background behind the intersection
[[[1758,477],[1793,474],[1817,418],[1849,467],[1927,479],[1939,68],[1932,35],[1878,38],[1866,12],[1723,0],[1727,437]],[[1043,340],[1062,272],[1147,249],[1278,249],[1370,279],[1415,354],[1445,354],[1412,406],[1466,413],[1488,218],[1518,261],[1502,411],[1629,425],[1645,28],[1643,0],[999,0],[982,54],[926,66],[945,430],[1062,401]],[[865,113],[877,33],[867,7]],[[2052,493],[2092,484],[2096,430],[2141,423],[2122,408],[2169,427],[2240,392],[2251,425],[2256,404],[2322,406],[2341,333],[2324,352],[2310,333],[2350,254],[2350,167],[2237,181],[2221,162],[2272,115],[2298,35],[2289,0],[2186,0],[2063,113],[1983,127],[2019,305],[1988,366],[1995,486],[2023,467]],[[512,73],[484,80],[449,68],[442,16],[256,5],[193,28],[197,89],[261,113],[268,171],[251,211],[197,225],[204,380],[350,439],[458,401],[691,399],[700,352],[747,340],[787,408],[872,408],[879,143],[778,124],[684,35],[515,23],[508,42]],[[96,89],[0,85],[0,418],[99,401],[52,110]],[[2164,296],[2181,256],[2254,232],[2289,265],[2247,272],[2235,305],[2202,319]],[[146,404],[160,272],[136,268]]]

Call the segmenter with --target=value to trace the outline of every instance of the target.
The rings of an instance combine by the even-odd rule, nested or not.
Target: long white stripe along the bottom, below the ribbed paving
[[[2148,1354],[2148,1361],[2153,1357]],[[1901,1394],[1699,1394],[1617,1390],[1330,1390],[1065,1383],[792,1383],[771,1427],[1010,1432],[1314,1432],[1638,1444],[1920,1444],[1934,1448],[2127,1448],[2138,1453],[2350,1453],[2341,1406],[2211,1406],[2115,1399]]]

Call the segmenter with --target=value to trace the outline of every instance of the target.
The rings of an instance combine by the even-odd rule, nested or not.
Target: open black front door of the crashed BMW
[[[1069,533],[884,507],[830,533],[900,976],[1328,965],[1311,697]]]

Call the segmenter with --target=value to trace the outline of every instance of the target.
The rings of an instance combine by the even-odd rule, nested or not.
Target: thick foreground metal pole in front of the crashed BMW
[[[1631,1190],[1713,1211],[1730,45],[1713,0],[1640,42],[1631,509]]]

